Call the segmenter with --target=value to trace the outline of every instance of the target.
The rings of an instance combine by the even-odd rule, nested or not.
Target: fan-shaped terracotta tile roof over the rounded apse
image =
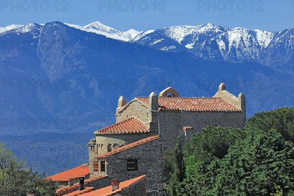
[[[135,118],[129,118],[120,123],[107,126],[95,131],[95,134],[123,134],[123,133],[148,133],[148,127]]]

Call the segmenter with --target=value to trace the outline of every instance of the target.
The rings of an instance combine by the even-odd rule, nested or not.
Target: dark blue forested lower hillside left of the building
[[[24,159],[25,167],[53,175],[89,162],[88,142],[93,133],[38,133],[1,136],[8,149]]]

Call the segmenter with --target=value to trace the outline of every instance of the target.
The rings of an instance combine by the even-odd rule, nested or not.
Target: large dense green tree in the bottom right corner
[[[269,196],[275,184],[284,193],[293,190],[294,145],[276,130],[260,132],[230,147],[221,160],[218,195]]]

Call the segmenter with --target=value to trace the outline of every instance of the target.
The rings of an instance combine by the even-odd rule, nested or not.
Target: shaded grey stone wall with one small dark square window
[[[138,172],[127,172],[127,160],[138,160]],[[106,158],[106,174],[110,179],[128,180],[147,175],[147,192],[163,190],[161,138],[123,150]]]

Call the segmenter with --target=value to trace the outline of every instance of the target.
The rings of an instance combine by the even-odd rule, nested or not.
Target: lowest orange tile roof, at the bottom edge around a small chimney
[[[138,182],[139,180],[144,179],[145,177],[146,177],[146,175],[141,175],[139,177],[135,177],[130,180],[125,180],[123,182],[120,182],[120,185],[119,185],[120,188],[115,191],[112,191],[112,186],[107,186],[107,187],[104,187],[101,189],[97,189],[95,191],[91,191],[89,193],[82,194],[81,196],[110,196],[110,195],[112,195],[116,192],[119,192],[122,189],[134,184],[135,182]]]

